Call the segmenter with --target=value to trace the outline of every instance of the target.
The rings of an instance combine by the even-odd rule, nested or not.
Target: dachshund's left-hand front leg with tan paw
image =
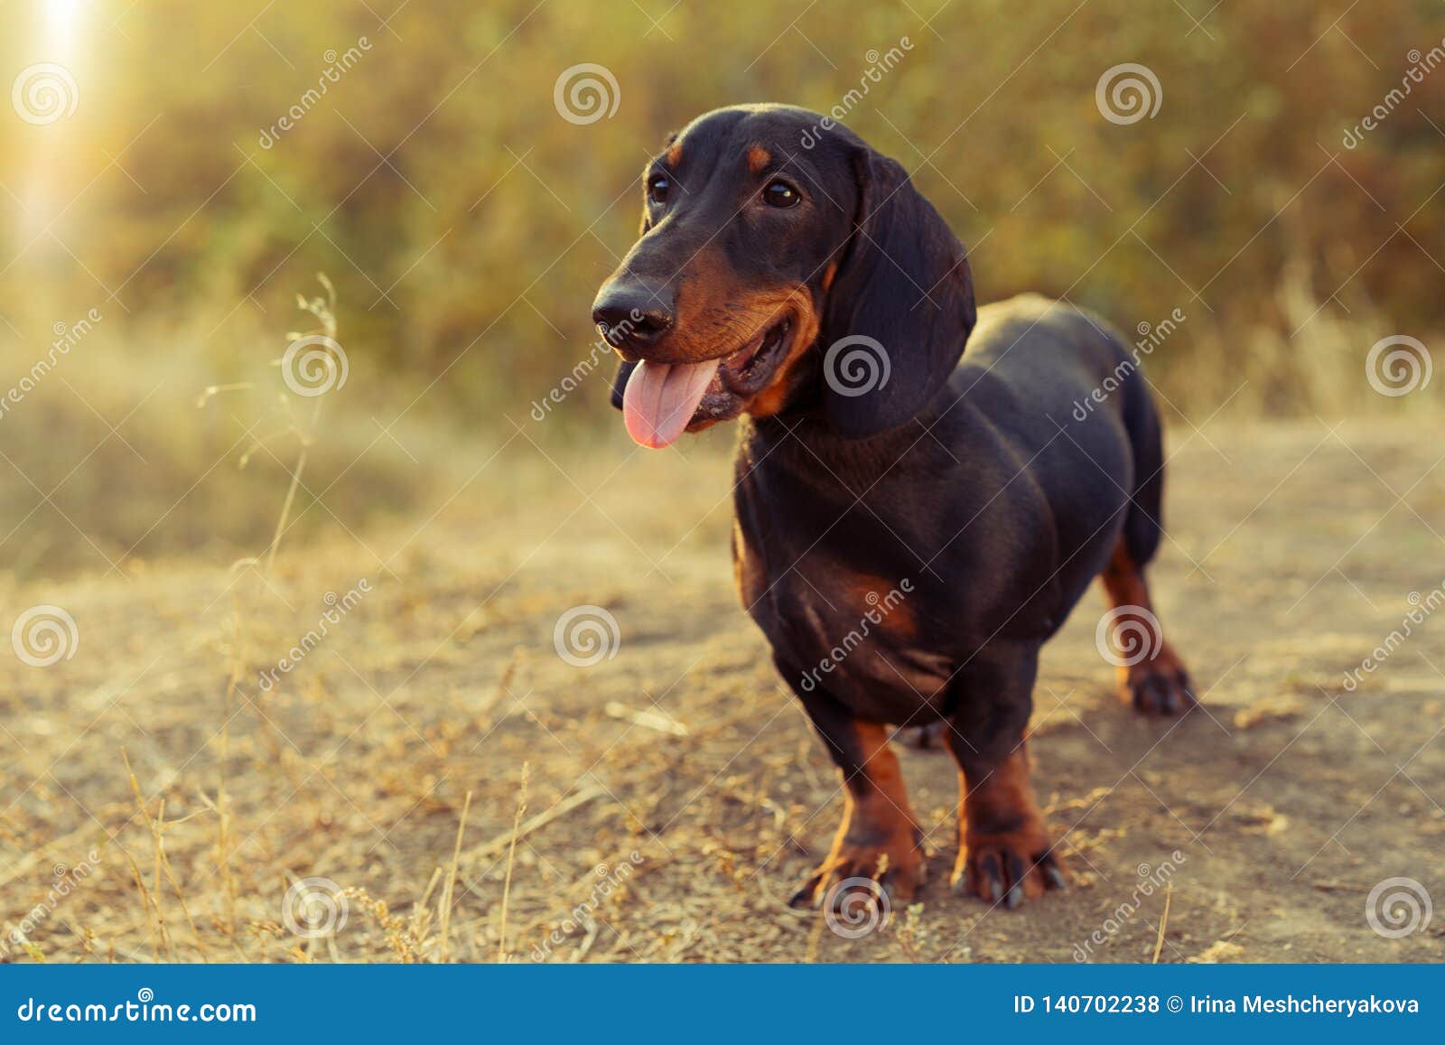
[[[838,763],[844,808],[828,859],[803,882],[792,906],[827,902],[838,908],[851,886],[835,886],[848,879],[876,880],[893,899],[912,900],[923,885],[926,863],[922,833],[903,788],[903,772],[889,747],[890,728],[854,718],[840,701],[819,689],[796,691]]]

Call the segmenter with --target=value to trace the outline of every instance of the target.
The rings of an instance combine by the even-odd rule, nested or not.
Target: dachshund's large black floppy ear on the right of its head
[[[854,156],[858,215],[828,289],[824,351],[828,423],[858,439],[922,410],[958,366],[974,328],[964,244],[887,156]]]

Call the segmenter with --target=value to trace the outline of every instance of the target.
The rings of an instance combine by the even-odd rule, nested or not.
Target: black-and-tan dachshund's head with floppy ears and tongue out
[[[644,447],[821,406],[848,438],[944,386],[974,325],[964,247],[903,168],[788,106],[720,108],[643,171],[642,238],[592,304]]]

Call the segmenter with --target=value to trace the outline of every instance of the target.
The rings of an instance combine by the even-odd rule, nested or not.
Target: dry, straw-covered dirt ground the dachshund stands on
[[[785,906],[841,799],[733,594],[718,439],[553,463],[523,432],[458,451],[471,481],[410,526],[338,525],[266,577],[133,561],[13,588],[6,627],[53,604],[77,639],[0,658],[0,955],[1442,961],[1445,911],[1386,938],[1366,905],[1390,877],[1445,903],[1445,620],[1342,685],[1445,581],[1442,435],[1176,423],[1155,591],[1202,708],[1116,701],[1092,593],[1032,743],[1075,886],[1019,912],[951,895],[954,769],[906,752],[932,882],[860,938]],[[585,668],[553,649],[579,604],[620,633]]]

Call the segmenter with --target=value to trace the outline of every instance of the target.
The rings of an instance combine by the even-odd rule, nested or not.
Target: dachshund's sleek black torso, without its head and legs
[[[738,588],[783,678],[831,661],[868,593],[881,600],[906,580],[827,689],[863,718],[949,718],[975,674],[1032,662],[1126,530],[1130,556],[1147,562],[1160,455],[1142,379],[1092,423],[1069,416],[1127,358],[1084,314],[1016,298],[980,311],[968,356],[916,423],[853,442],[819,419],[744,422]],[[1139,490],[1136,476],[1155,481]]]

